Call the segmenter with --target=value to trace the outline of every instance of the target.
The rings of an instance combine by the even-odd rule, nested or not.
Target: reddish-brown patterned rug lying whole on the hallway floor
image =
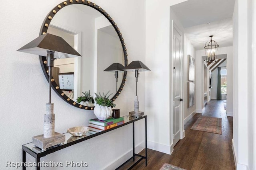
[[[197,130],[197,131],[222,134],[221,118],[200,116],[190,129]]]

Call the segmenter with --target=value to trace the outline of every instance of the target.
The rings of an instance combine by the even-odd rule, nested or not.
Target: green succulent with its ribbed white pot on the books
[[[112,108],[116,106],[116,104],[113,103],[112,100],[108,99],[109,96],[111,94],[109,94],[109,91],[104,94],[104,92],[102,92],[102,94],[96,94],[96,98],[95,98],[95,107],[94,107],[94,114],[96,115],[96,117],[99,120],[106,120],[108,119],[108,117],[110,117],[112,115]]]

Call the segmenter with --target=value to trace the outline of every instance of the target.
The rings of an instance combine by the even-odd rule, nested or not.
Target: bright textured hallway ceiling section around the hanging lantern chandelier
[[[194,46],[195,50],[203,50],[206,41],[210,40],[210,35],[221,47],[232,46],[233,33],[232,33],[232,18],[211,22],[210,24],[196,25],[188,27],[184,33],[190,43]]]

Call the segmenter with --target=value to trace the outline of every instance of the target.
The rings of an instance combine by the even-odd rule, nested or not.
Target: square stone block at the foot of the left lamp
[[[53,137],[46,138],[44,135],[38,135],[32,137],[32,143],[36,147],[46,150],[49,147],[53,147],[58,144],[63,144],[65,142],[65,135],[55,132]]]

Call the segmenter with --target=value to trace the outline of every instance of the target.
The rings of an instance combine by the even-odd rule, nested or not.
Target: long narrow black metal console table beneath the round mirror
[[[134,144],[134,122],[141,120],[141,119],[145,119],[145,147],[146,147],[146,154],[145,156],[139,155],[139,154],[135,154],[134,150],[135,150],[135,144]],[[143,115],[142,117],[139,118],[135,118],[135,117],[130,117],[130,116],[124,116],[124,124],[119,125],[117,127],[113,127],[112,129],[108,129],[106,131],[102,131],[102,132],[98,132],[95,134],[91,134],[89,132],[86,133],[86,135],[82,136],[82,137],[73,137],[72,135],[70,135],[69,133],[64,133],[64,135],[66,135],[66,141],[64,142],[64,144],[62,145],[56,145],[54,147],[50,147],[46,150],[41,150],[38,147],[35,147],[32,143],[27,143],[25,145],[22,145],[22,162],[26,162],[26,153],[30,154],[31,156],[33,156],[36,159],[36,170],[40,170],[40,166],[38,166],[39,162],[40,162],[40,158],[43,156],[46,156],[50,153],[56,152],[58,150],[64,149],[66,147],[75,145],[77,143],[80,143],[82,141],[86,141],[90,138],[96,137],[98,135],[101,135],[103,133],[107,133],[109,131],[113,131],[114,129],[120,128],[122,126],[128,125],[132,123],[132,134],[133,134],[133,156],[132,158],[130,158],[129,160],[127,160],[126,162],[130,161],[131,159],[133,159],[133,161],[135,161],[135,157],[138,156],[140,157],[139,160],[137,160],[136,162],[134,162],[134,164],[132,166],[130,166],[130,168],[128,168],[128,170],[132,169],[134,166],[136,166],[136,164],[138,164],[141,160],[145,159],[146,160],[146,166],[148,165],[148,154],[147,154],[147,116]],[[126,162],[124,162],[124,164],[126,164]],[[124,164],[122,164],[121,166],[123,166]],[[121,166],[119,166],[116,169],[119,169]],[[26,170],[26,166],[24,166],[24,164],[22,164],[22,170]]]

